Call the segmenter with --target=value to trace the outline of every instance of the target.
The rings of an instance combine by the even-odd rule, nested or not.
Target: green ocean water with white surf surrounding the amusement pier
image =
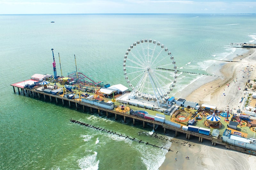
[[[251,14],[47,14],[0,15],[0,169],[158,169],[164,149],[70,122],[70,119],[169,148],[174,133],[132,120],[98,115],[18,95],[10,84],[33,74],[77,70],[104,84],[127,86],[125,52],[136,41],[152,39],[167,47],[178,78],[170,96],[185,98],[217,78],[225,64],[246,49],[230,43],[255,43]],[[54,21],[54,23],[51,23]],[[74,55],[76,55],[76,65]],[[170,62],[170,61],[166,61]],[[197,74],[192,74],[192,73]],[[199,74],[200,73],[200,74]],[[212,76],[205,76],[209,74]],[[198,81],[200,80],[200,81]],[[186,89],[186,90],[184,90]]]

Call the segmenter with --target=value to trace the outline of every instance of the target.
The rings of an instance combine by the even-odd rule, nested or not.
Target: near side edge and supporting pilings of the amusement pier
[[[130,115],[129,113],[117,112],[114,109],[111,110],[111,109],[98,107],[98,106],[95,106],[95,105],[91,105],[91,104],[88,104],[88,103],[81,102],[81,99],[68,99],[68,98],[62,97],[60,95],[49,94],[49,93],[45,93],[43,91],[38,91],[38,90],[35,90],[35,89],[21,88],[21,87],[15,86],[15,85],[12,85],[12,86],[13,86],[13,92],[14,93],[16,93],[15,92],[15,87],[17,87],[18,88],[18,93],[21,94],[20,93],[20,89],[21,89],[24,96],[27,94],[29,97],[38,97],[39,99],[50,100],[50,102],[56,101],[56,104],[61,102],[63,106],[68,103],[69,107],[72,107],[72,105],[75,105],[76,109],[79,109],[80,107],[83,107],[83,110],[85,110],[86,107],[89,107],[90,110],[91,110],[91,113],[92,113],[92,109],[97,109],[99,115],[101,115],[100,111],[105,111],[107,117],[108,117],[109,113],[111,113],[111,114],[115,115],[116,120],[117,120],[117,115],[123,116],[124,122],[126,122],[126,118],[130,118],[130,119],[133,120],[133,125],[135,125],[135,121],[140,121],[140,122],[143,123],[143,128],[145,128],[146,123],[151,123],[151,124],[153,124],[153,129],[154,130],[156,130],[156,126],[158,125],[158,126],[163,127],[164,133],[166,133],[166,129],[175,131],[175,137],[177,137],[179,135],[179,133],[181,133],[181,134],[185,134],[186,139],[188,139],[188,140],[190,139],[190,136],[194,136],[194,137],[199,138],[198,141],[200,143],[203,142],[203,139],[206,139],[206,140],[210,140],[212,142],[212,145],[214,145],[214,146],[216,144],[220,144],[220,145],[226,146],[226,148],[228,148],[228,149],[233,149],[233,150],[244,152],[244,153],[247,153],[247,154],[256,155],[256,152],[254,152],[254,151],[223,143],[222,139],[220,137],[207,136],[207,135],[203,135],[203,134],[183,130],[182,128],[177,128],[177,127],[168,125],[166,123],[162,123],[162,122],[158,122],[158,121],[149,120],[149,119],[145,119],[145,118],[142,118],[142,117]]]

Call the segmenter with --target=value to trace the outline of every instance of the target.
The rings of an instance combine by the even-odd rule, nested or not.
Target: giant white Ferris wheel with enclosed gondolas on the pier
[[[132,89],[129,99],[156,100],[160,106],[176,83],[177,66],[168,48],[159,41],[134,42],[124,55],[123,71]]]

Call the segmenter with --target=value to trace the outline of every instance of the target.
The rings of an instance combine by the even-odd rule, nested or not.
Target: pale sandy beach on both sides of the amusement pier
[[[248,79],[256,79],[256,48],[246,50],[233,61],[223,65],[220,70],[222,76],[202,85],[189,94],[186,100],[213,105],[218,110],[241,108],[240,100],[247,93],[244,91],[245,83]],[[170,149],[173,152],[165,155],[160,170],[255,169],[255,156],[228,150],[221,145],[212,146],[207,140],[199,143],[197,137],[190,140],[186,140],[185,135],[173,138]],[[189,159],[186,159],[187,156]]]

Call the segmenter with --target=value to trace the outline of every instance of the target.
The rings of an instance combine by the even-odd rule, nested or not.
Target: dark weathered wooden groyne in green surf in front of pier
[[[153,147],[157,147],[157,148],[160,148],[160,149],[165,149],[165,150],[167,150],[168,152],[169,152],[169,151],[172,151],[171,149],[164,148],[163,146],[160,147],[160,146],[156,146],[155,144],[149,144],[148,142],[144,142],[144,141],[142,141],[142,140],[138,140],[138,139],[135,139],[135,138],[132,138],[132,137],[129,137],[129,136],[124,136],[124,135],[118,134],[118,133],[116,133],[116,132],[114,132],[114,131],[106,130],[106,129],[103,129],[103,128],[100,128],[100,127],[92,126],[92,125],[87,124],[87,123],[84,123],[84,122],[79,122],[79,121],[73,120],[72,118],[70,119],[70,122],[78,123],[78,124],[80,124],[80,125],[87,126],[87,127],[90,127],[90,128],[96,129],[96,130],[105,131],[105,132],[107,132],[107,133],[109,133],[109,134],[115,134],[115,135],[117,135],[117,136],[119,136],[119,137],[124,137],[125,139],[131,139],[132,141],[137,141],[137,142],[139,142],[139,143],[144,143],[144,144],[146,144],[146,145],[151,145],[151,146],[153,146]]]

